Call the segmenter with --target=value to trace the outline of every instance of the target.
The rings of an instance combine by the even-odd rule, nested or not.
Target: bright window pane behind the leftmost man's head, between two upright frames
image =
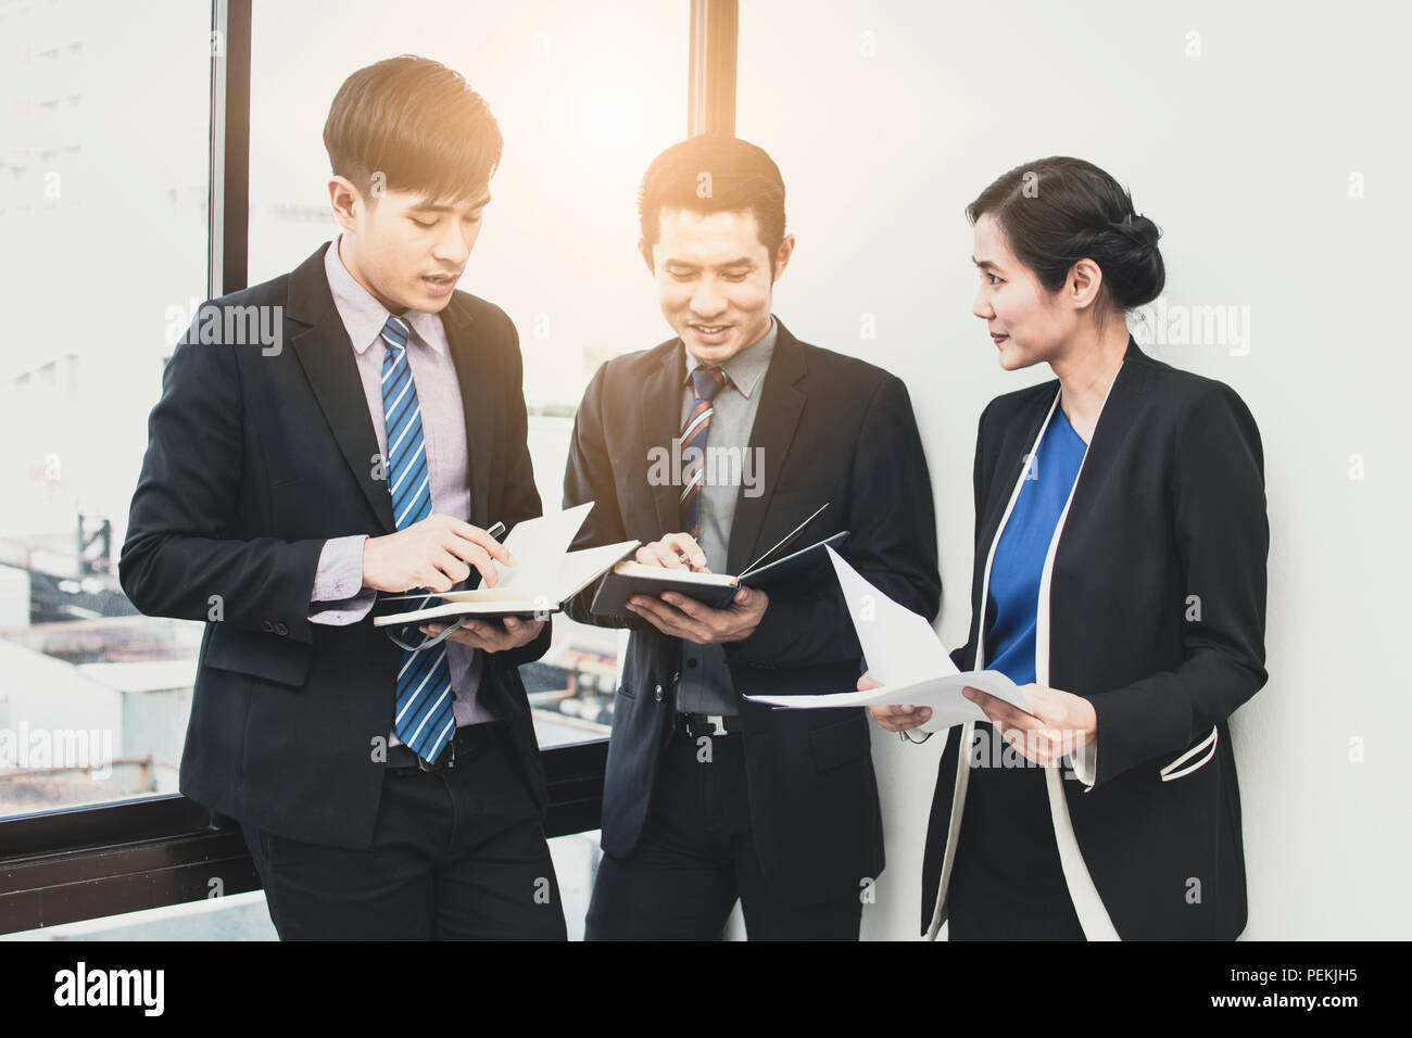
[[[637,188],[686,131],[689,4],[633,0],[611,17],[565,3],[438,0],[418,4],[415,20],[373,0],[333,10],[254,6],[250,281],[337,234],[322,134],[353,71],[418,54],[462,72],[505,144],[459,288],[501,306],[520,332],[535,482],[556,510],[593,371],[669,335],[637,251]],[[554,647],[521,671],[541,746],[606,736],[617,655],[617,631],[555,617]]]

